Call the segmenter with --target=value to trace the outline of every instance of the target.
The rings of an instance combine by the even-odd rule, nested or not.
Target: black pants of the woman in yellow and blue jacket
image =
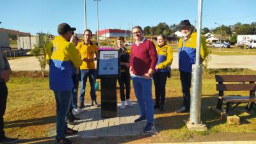
[[[155,95],[156,95],[156,105],[163,105],[165,101],[165,85],[167,79],[167,72],[156,72],[153,75],[154,85],[155,85]]]

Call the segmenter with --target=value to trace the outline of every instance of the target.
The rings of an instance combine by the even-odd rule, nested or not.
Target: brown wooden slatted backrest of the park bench
[[[256,75],[216,75],[216,89],[219,96],[224,95],[224,91],[250,91],[250,96],[255,96]],[[224,82],[236,82],[236,84],[224,84]],[[242,82],[242,83],[238,83]],[[246,83],[247,82],[247,83]]]

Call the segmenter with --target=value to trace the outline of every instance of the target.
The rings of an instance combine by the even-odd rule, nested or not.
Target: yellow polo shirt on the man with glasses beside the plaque
[[[95,44],[86,45],[84,42],[79,42],[76,45],[76,49],[79,52],[81,59],[84,58],[95,58],[94,54],[98,55],[98,47]],[[88,70],[88,69],[96,69],[94,61],[85,62],[83,61],[82,65],[80,66],[81,70]]]

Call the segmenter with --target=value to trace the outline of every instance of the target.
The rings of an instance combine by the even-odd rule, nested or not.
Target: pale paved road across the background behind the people
[[[211,54],[212,59],[209,61],[209,68],[251,68],[256,70],[256,56],[220,56]],[[13,71],[40,71],[39,62],[35,57],[20,58],[16,60],[9,60]],[[172,68],[179,68],[178,53],[173,53]],[[49,70],[47,65],[45,70]]]

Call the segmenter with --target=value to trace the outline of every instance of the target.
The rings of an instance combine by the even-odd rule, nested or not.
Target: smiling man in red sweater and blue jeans
[[[140,118],[134,122],[147,120],[145,132],[154,127],[154,102],[152,99],[152,75],[157,63],[157,51],[153,42],[143,37],[140,26],[134,26],[132,35],[136,42],[131,48],[130,74],[136,98],[140,108]]]

